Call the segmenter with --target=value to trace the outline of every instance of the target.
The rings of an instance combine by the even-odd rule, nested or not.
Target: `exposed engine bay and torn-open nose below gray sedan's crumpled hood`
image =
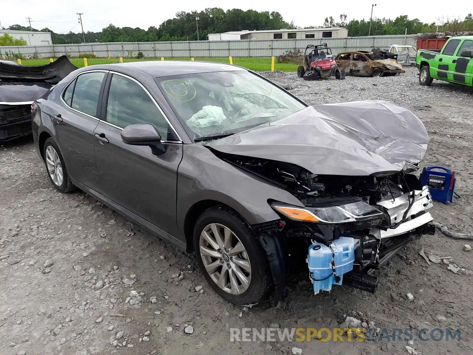
[[[303,209],[270,201],[281,216],[280,234],[290,254],[308,250],[315,294],[342,283],[375,292],[379,266],[413,238],[435,231],[427,212],[429,189],[410,173],[317,175],[291,163],[216,154],[304,204]]]

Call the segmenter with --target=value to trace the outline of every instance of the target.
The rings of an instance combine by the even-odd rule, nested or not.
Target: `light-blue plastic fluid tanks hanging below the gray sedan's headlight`
[[[311,279],[314,285],[314,294],[320,291],[332,290],[332,285],[341,285],[343,274],[353,270],[353,261],[355,260],[355,248],[358,247],[359,240],[350,237],[340,237],[333,240],[330,245],[332,250],[322,243],[314,243],[309,247],[307,256],[307,264],[309,272],[313,279],[322,280],[315,281]],[[335,274],[333,274],[332,258],[335,265]],[[327,277],[329,276],[329,277]],[[335,276],[339,276],[337,282]]]

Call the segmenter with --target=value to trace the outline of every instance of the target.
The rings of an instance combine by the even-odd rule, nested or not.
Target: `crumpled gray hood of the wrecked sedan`
[[[206,146],[296,164],[313,174],[366,176],[420,162],[428,142],[411,111],[366,100],[306,107]]]

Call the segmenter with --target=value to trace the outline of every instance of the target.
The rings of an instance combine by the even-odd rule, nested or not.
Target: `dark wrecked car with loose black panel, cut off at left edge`
[[[0,142],[31,134],[31,104],[76,70],[66,56],[46,65],[0,61]]]

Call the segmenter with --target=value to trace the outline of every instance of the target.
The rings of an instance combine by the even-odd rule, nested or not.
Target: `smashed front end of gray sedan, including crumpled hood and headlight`
[[[269,200],[280,220],[253,226],[270,259],[277,302],[288,255],[307,257],[315,294],[332,284],[374,293],[380,266],[414,238],[434,234],[429,189],[412,175],[428,142],[409,110],[359,101],[307,107],[207,146],[301,203]]]

